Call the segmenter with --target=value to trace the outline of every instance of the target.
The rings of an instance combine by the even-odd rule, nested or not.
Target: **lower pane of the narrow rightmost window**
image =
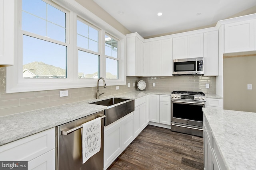
[[[106,58],[106,78],[118,79],[118,61]]]

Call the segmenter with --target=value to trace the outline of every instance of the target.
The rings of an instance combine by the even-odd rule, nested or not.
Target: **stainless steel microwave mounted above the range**
[[[204,57],[189,59],[174,59],[173,75],[204,74]]]

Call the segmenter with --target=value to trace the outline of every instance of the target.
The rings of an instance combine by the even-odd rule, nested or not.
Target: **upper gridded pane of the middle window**
[[[77,20],[77,46],[98,52],[98,30]]]

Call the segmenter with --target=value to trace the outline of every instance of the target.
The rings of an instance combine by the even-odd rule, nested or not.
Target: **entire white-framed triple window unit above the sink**
[[[14,3],[7,93],[95,87],[99,77],[108,86],[126,84],[124,34],[74,1]]]

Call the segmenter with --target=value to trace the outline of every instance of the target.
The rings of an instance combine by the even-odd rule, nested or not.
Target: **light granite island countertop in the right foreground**
[[[203,108],[229,170],[256,169],[256,113]]]

